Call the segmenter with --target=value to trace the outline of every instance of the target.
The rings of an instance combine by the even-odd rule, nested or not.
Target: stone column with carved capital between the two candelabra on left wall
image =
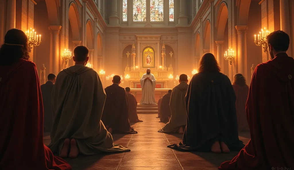
[[[59,31],[61,26],[49,26],[50,30],[50,67],[49,73],[59,73]]]

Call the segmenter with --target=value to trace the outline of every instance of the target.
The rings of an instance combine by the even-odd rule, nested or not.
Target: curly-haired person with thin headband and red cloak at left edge
[[[43,101],[28,39],[19,29],[0,48],[0,169],[70,170],[43,143]]]

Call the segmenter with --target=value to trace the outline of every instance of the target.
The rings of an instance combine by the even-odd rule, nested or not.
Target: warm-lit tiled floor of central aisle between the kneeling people
[[[143,122],[132,125],[138,134],[113,135],[116,144],[128,147],[131,152],[79,156],[66,160],[74,170],[216,170],[223,161],[238,154],[175,151],[166,146],[180,142],[182,135],[157,132],[164,126],[156,119],[157,114],[138,116]],[[249,141],[249,132],[239,135],[245,144]],[[49,142],[50,137],[46,134],[44,143]]]

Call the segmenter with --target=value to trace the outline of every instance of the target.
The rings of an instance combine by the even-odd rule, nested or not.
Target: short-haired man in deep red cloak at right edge
[[[294,59],[283,31],[267,36],[271,60],[252,76],[246,114],[251,139],[220,170],[294,169]]]

